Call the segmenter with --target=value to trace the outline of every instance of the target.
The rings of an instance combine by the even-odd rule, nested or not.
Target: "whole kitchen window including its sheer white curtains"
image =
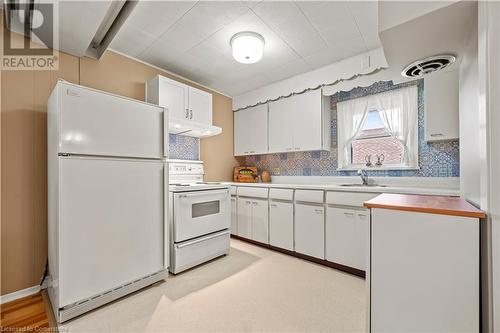
[[[417,103],[416,86],[338,103],[338,168],[418,168]]]

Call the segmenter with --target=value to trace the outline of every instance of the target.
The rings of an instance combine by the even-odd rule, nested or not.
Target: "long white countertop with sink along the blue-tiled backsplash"
[[[276,177],[278,178],[278,177]],[[279,181],[271,183],[235,183],[226,182],[233,186],[247,187],[268,187],[268,188],[290,188],[290,189],[307,189],[307,190],[323,190],[323,191],[342,191],[342,192],[369,192],[369,193],[401,193],[401,194],[428,194],[428,195],[449,195],[460,196],[460,189],[457,187],[458,178],[438,178],[422,180],[423,177],[392,177],[392,179],[375,178],[377,184],[382,186],[341,186],[341,184],[360,184],[359,177],[320,177],[311,178],[311,183],[304,183],[305,177],[297,177],[297,182],[288,182],[291,177],[283,177]],[[337,179],[333,179],[337,178]],[[389,178],[389,177],[384,177]],[[394,179],[399,178],[399,179]],[[414,179],[416,178],[416,179]],[[431,178],[431,177],[429,177]],[[382,180],[381,180],[382,179]],[[283,182],[283,181],[287,182]],[[318,180],[323,184],[317,183]],[[373,182],[373,178],[370,182]],[[434,186],[431,186],[434,185]]]

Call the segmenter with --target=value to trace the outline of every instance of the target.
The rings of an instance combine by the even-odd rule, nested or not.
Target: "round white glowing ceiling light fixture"
[[[242,64],[253,64],[264,54],[264,37],[256,32],[242,31],[231,37],[233,58]]]

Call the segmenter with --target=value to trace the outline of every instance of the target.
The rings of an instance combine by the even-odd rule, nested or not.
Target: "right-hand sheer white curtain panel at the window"
[[[418,88],[401,88],[373,95],[380,118],[404,147],[403,163],[418,167]]]

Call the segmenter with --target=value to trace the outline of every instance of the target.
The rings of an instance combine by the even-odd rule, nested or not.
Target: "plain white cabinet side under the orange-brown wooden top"
[[[371,332],[479,331],[479,220],[372,208]]]

